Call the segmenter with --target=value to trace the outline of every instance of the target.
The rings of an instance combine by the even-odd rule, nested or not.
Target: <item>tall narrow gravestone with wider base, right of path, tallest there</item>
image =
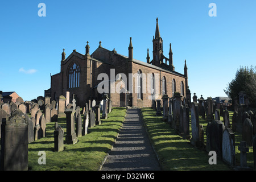
[[[202,143],[199,138],[199,110],[197,102],[191,104],[191,144],[195,147],[201,147]]]

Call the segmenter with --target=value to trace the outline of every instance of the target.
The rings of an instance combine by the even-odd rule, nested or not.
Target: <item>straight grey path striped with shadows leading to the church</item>
[[[140,109],[127,109],[125,122],[101,171],[159,171]]]

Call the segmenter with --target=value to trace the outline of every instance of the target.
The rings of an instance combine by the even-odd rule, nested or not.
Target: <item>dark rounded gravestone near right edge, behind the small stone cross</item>
[[[253,124],[249,118],[243,121],[242,140],[246,142],[247,146],[253,146]]]

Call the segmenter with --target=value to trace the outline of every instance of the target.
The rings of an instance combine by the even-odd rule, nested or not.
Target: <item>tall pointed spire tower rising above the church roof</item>
[[[160,67],[163,53],[163,39],[160,37],[158,18],[156,18],[155,37],[153,36],[153,65]]]

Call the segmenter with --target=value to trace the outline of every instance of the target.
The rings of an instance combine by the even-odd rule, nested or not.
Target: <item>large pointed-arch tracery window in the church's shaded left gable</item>
[[[80,82],[80,67],[76,63],[69,68],[68,71],[68,88],[79,87]]]

